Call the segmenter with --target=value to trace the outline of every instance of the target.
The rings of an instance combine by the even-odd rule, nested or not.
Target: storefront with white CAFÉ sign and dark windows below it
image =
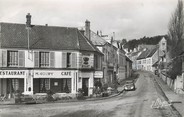
[[[34,70],[33,92],[76,93],[75,70]]]

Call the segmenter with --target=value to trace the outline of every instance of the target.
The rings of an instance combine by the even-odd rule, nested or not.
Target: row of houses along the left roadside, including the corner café
[[[93,94],[95,82],[103,85],[131,75],[132,61],[122,46],[105,41],[90,29],[0,23],[0,94]]]

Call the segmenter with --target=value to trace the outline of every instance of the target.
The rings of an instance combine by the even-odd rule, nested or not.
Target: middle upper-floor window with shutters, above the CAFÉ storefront
[[[40,67],[49,67],[49,52],[40,52]]]

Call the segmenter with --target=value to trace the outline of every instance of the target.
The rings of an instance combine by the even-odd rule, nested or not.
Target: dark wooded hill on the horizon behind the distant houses
[[[154,37],[144,36],[143,38],[140,38],[140,39],[133,39],[133,40],[128,41],[124,45],[124,48],[128,48],[128,50],[133,50],[134,48],[137,48],[138,45],[142,45],[142,44],[156,45],[162,39],[162,37],[165,37],[166,39],[168,38],[167,35],[158,35]]]

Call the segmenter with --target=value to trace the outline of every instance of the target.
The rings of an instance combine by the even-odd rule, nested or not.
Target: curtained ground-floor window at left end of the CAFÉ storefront
[[[40,79],[40,93],[46,93],[50,89],[49,79]]]

